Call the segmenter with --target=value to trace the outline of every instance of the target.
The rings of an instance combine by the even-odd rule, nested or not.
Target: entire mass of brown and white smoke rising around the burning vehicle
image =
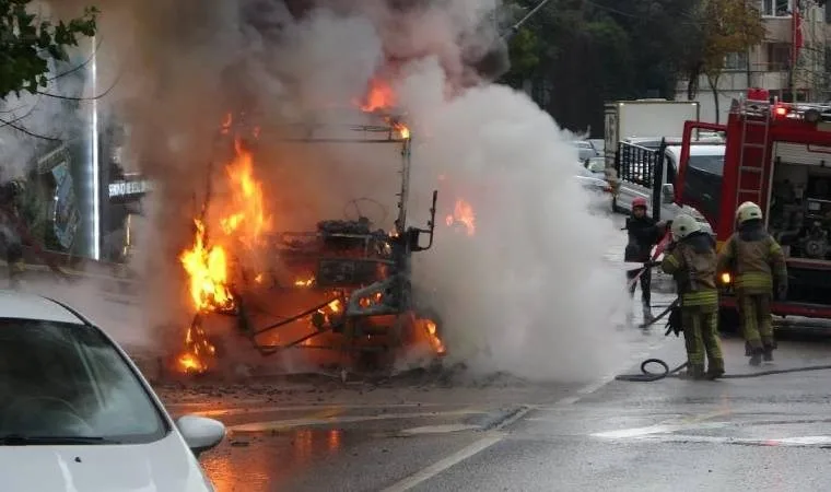
[[[57,13],[78,14],[86,3],[61,1]],[[293,3],[296,13],[301,2]],[[394,218],[395,149],[269,144],[280,124],[344,114],[363,121],[353,101],[383,77],[413,131],[411,225],[424,225],[440,191],[435,246],[417,258],[414,276],[435,291],[449,356],[537,378],[602,371],[617,345],[611,313],[596,300],[616,305],[622,295],[621,273],[601,260],[610,221],[586,211],[589,197],[572,179],[572,136],[472,68],[494,46],[498,3],[320,0],[295,19],[277,0],[101,1],[98,85],[120,75],[102,105],[130,126],[128,159],[159,190],[159,213],[138,238],[143,268],[154,273],[143,323],[180,309],[176,256],[231,108],[262,126],[257,173],[277,226],[342,219],[344,203],[360,197],[382,201]],[[473,236],[442,226],[459,199],[476,212]]]

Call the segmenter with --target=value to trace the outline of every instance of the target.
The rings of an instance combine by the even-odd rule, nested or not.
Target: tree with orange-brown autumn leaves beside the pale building
[[[703,0],[697,12],[700,26],[700,50],[690,73],[690,83],[701,74],[707,79],[713,93],[715,118],[718,122],[718,81],[727,55],[745,54],[764,40],[762,16],[753,5],[736,0]],[[689,94],[692,96],[693,94]]]

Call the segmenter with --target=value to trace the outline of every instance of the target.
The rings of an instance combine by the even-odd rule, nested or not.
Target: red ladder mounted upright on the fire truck
[[[747,102],[749,103],[749,102]],[[736,204],[738,206],[745,201],[752,201],[753,203],[761,203],[764,190],[763,183],[763,169],[764,163],[768,161],[768,137],[771,129],[771,105],[768,102],[753,102],[756,110],[751,113],[747,106],[742,105],[742,122],[741,122],[741,149],[739,151],[739,172],[738,183],[736,186]],[[760,112],[759,108],[762,110]],[[759,114],[763,119],[759,119]],[[749,129],[752,126],[763,126],[764,132],[762,139],[759,140],[760,132],[752,132],[754,138],[748,139]],[[748,159],[750,156],[750,159]],[[759,156],[759,159],[756,159]],[[750,164],[752,163],[752,164]]]

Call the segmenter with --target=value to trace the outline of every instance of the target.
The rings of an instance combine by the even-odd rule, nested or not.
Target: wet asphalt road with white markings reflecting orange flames
[[[658,293],[656,303],[668,298]],[[620,372],[646,356],[684,360],[681,339],[659,327],[621,329],[631,359]],[[785,339],[775,362],[754,368],[740,340],[724,339],[730,375],[831,364],[830,347]],[[226,424],[226,440],[200,459],[218,492],[819,491],[831,448],[829,374],[631,383],[610,373],[540,384],[448,370],[157,390],[174,415]]]

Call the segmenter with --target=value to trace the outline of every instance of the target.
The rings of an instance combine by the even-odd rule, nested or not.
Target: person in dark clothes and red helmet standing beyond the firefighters
[[[663,224],[656,223],[655,220],[646,215],[646,199],[636,197],[632,200],[632,215],[627,219],[624,227],[629,234],[629,242],[623,254],[623,261],[642,262],[644,268],[649,262],[652,248],[658,244],[663,233]],[[637,282],[633,281],[642,269],[627,271],[627,279],[630,282],[629,296],[633,298]],[[643,270],[641,273],[641,304],[643,305],[643,323],[652,323],[652,274],[649,270]],[[631,314],[630,314],[631,317]]]

